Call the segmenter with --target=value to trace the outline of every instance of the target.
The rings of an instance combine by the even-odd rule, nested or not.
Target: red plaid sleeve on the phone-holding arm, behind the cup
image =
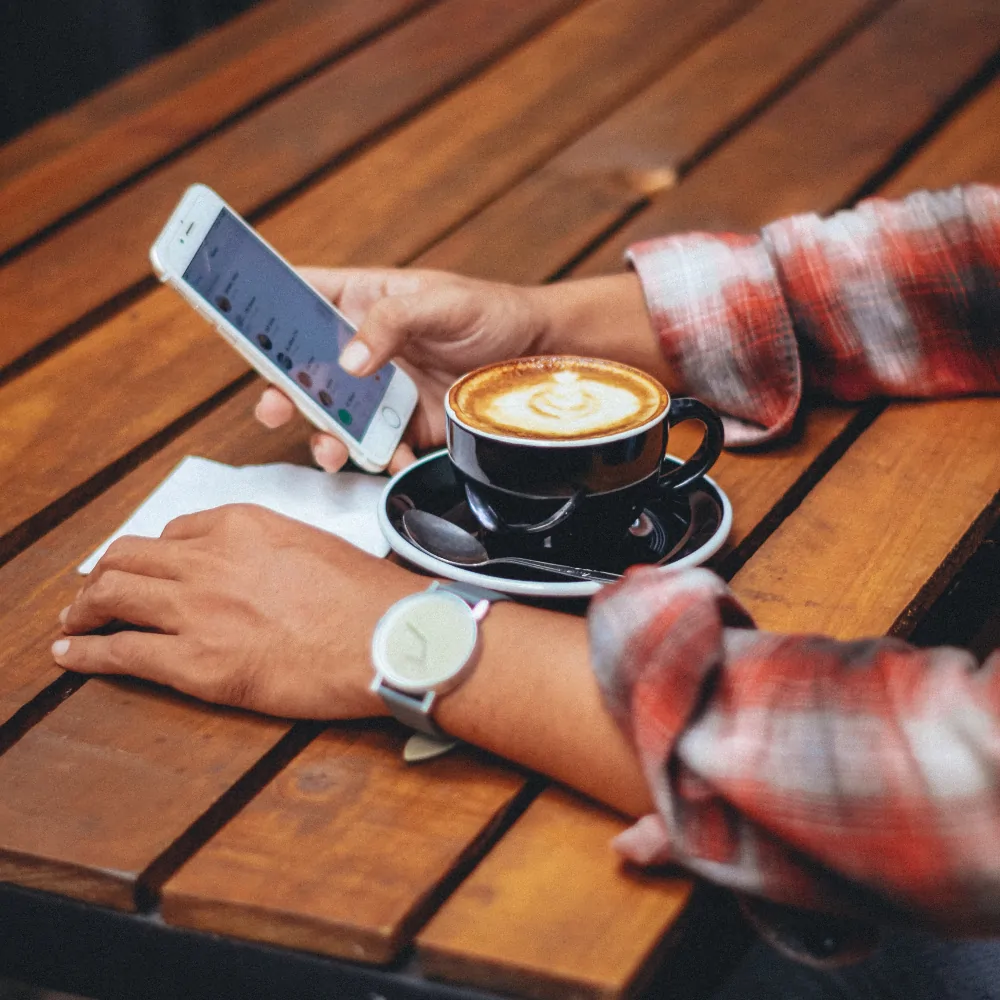
[[[1000,390],[1000,189],[669,236],[629,258],[667,359],[730,446],[787,433],[804,393]]]

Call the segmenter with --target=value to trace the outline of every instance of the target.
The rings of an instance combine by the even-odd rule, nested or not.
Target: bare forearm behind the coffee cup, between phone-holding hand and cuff
[[[540,354],[620,361],[654,375],[668,389],[677,388],[633,272],[561,281],[528,292],[544,318]]]

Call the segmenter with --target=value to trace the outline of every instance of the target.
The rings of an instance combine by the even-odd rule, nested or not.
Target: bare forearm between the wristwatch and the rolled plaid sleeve
[[[438,704],[442,728],[623,813],[648,812],[638,761],[590,669],[583,619],[505,602],[482,630],[475,671]]]

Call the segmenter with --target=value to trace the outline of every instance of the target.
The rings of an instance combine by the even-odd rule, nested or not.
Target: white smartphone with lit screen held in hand
[[[413,380],[389,363],[355,378],[338,364],[355,328],[211,188],[184,192],[150,248],[175,288],[307,420],[381,472],[417,403]]]

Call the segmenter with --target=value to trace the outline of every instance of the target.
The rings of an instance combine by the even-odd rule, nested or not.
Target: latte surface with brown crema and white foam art
[[[669,404],[656,379],[628,365],[576,357],[520,358],[470,372],[448,393],[472,431],[575,441],[641,427]]]

